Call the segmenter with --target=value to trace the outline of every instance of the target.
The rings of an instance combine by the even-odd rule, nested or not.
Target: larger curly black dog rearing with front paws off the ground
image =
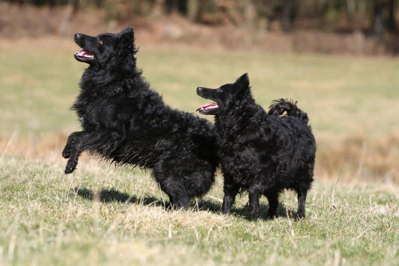
[[[62,152],[65,173],[82,151],[116,164],[150,168],[172,205],[188,208],[206,193],[218,164],[213,126],[167,106],[136,68],[133,28],[96,37],[75,34],[89,64],[73,105],[83,131],[71,133]]]

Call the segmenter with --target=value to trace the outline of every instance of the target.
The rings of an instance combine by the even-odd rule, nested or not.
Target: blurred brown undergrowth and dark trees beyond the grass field
[[[398,54],[398,20],[398,0],[0,2],[3,36],[94,34],[134,25],[146,41],[279,52]]]

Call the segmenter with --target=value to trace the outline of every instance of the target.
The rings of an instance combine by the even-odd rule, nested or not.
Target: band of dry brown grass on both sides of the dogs
[[[64,161],[61,151],[67,135],[63,133],[39,135],[3,134],[0,137],[0,156],[40,158]],[[90,156],[83,154],[80,161]],[[95,159],[92,159],[95,161]],[[383,181],[399,183],[399,134],[384,138],[348,136],[336,138],[332,143],[320,140],[315,176],[318,178],[353,181]]]

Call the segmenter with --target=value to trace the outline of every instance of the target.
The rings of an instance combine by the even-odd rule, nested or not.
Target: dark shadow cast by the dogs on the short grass
[[[153,205],[164,207],[167,210],[171,209],[169,201],[161,201],[155,197],[137,197],[136,195],[129,195],[124,192],[120,192],[113,188],[110,189],[102,189],[99,193],[94,193],[93,190],[88,188],[77,187],[72,190],[74,194],[87,199],[87,200],[97,200],[103,203],[108,202],[122,202],[122,203],[135,203],[135,204],[142,204],[142,205]],[[193,205],[194,204],[194,205]],[[221,214],[221,203],[209,200],[209,199],[199,199],[192,204],[193,210],[202,210],[202,211],[210,211],[215,214]],[[259,208],[259,215],[252,216],[248,207],[248,204],[242,208],[232,207],[231,208],[231,215],[235,215],[237,217],[242,217],[246,220],[269,220],[270,218],[267,216],[267,212],[269,207],[267,204],[261,204]],[[296,212],[288,210],[285,208],[284,204],[279,204],[277,208],[277,212],[275,217],[287,217],[287,213],[290,218],[296,217]]]

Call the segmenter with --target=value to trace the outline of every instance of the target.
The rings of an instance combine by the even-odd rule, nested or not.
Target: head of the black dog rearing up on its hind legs
[[[75,34],[75,42],[82,50],[74,54],[79,62],[104,68],[116,64],[137,52],[134,45],[133,28],[125,28],[118,34],[103,33],[96,37]]]

